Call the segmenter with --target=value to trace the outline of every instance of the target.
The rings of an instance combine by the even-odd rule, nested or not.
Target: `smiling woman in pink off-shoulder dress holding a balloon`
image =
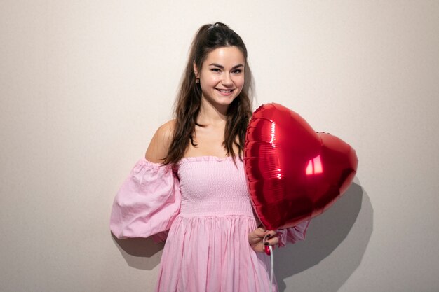
[[[116,195],[116,237],[166,239],[156,291],[271,291],[263,238],[304,238],[307,222],[257,227],[242,161],[250,84],[241,37],[219,22],[198,29],[176,118],[158,128]]]

